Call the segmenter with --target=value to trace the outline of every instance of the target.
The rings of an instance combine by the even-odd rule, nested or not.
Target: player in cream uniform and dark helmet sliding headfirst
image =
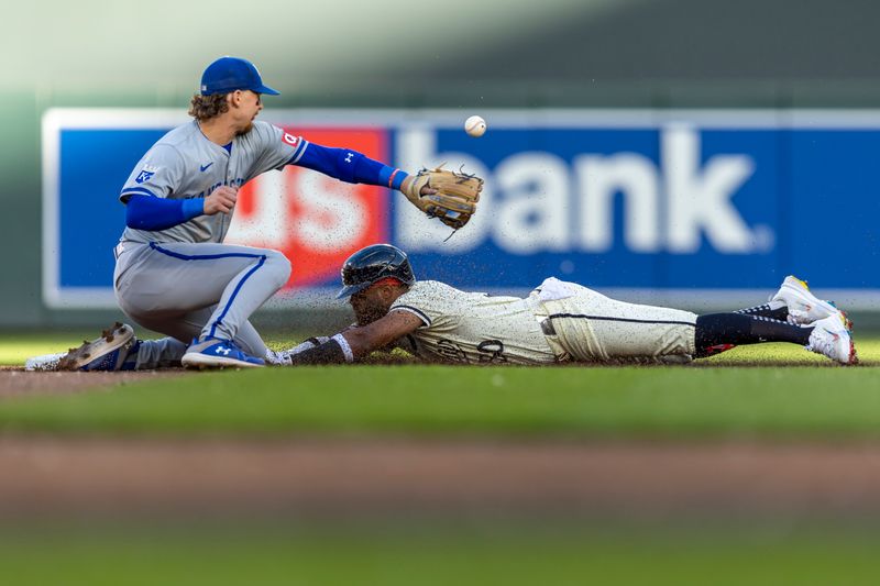
[[[342,284],[339,296],[350,299],[356,327],[301,344],[286,363],[356,362],[392,344],[428,361],[461,364],[673,363],[763,342],[857,362],[846,316],[794,277],[769,303],[697,316],[617,301],[552,277],[525,299],[465,292],[416,280],[403,251],[376,244],[345,262]]]

